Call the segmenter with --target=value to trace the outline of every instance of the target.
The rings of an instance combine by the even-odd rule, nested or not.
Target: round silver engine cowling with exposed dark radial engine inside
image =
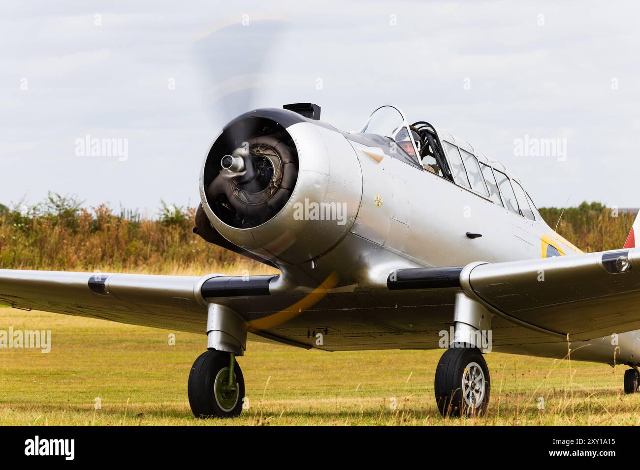
[[[228,123],[214,141],[200,196],[212,228],[236,251],[298,265],[349,232],[362,172],[339,131],[286,109],[257,109]]]

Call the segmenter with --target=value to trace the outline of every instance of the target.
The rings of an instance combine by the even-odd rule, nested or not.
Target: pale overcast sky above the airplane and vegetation
[[[4,0],[0,203],[195,205],[236,111],[311,101],[345,130],[399,106],[503,162],[539,207],[638,207],[639,15],[595,1]],[[265,18],[281,22],[255,27]],[[243,20],[246,36],[219,29]],[[232,100],[212,88],[225,79]],[[86,136],[120,139],[126,159],[84,155]],[[566,154],[516,155],[525,136],[566,139]]]

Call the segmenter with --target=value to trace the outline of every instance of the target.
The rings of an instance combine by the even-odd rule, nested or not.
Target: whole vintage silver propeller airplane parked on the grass
[[[328,351],[445,347],[435,396],[450,416],[486,411],[489,349],[563,358],[570,347],[572,359],[628,364],[624,389],[637,391],[637,221],[623,249],[583,254],[466,141],[409,125],[392,106],[360,132],[319,114],[314,104],[242,114],[200,171],[194,232],[281,274],[0,270],[0,302],[206,333],[188,381],[196,417],[240,414],[247,338]]]

